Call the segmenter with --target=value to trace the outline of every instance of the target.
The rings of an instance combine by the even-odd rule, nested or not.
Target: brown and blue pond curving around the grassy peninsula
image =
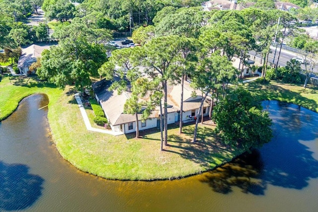
[[[65,161],[43,94],[0,123],[0,211],[288,211],[318,208],[318,114],[264,101],[274,137],[214,171],[172,181],[105,180]],[[256,126],[257,127],[257,126]],[[262,130],[262,129],[259,129]]]

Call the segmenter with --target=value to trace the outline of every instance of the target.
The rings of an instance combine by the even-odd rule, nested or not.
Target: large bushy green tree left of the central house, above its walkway
[[[75,83],[77,89],[83,90],[91,84],[89,76],[96,76],[98,68],[107,61],[104,47],[89,42],[85,28],[80,26],[60,31],[57,36],[59,46],[42,52],[37,74],[61,88]]]

